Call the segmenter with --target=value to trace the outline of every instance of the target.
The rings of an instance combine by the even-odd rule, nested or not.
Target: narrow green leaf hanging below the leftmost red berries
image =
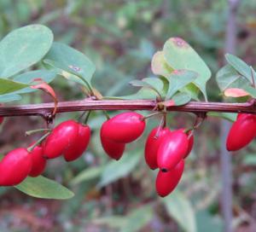
[[[26,177],[25,181],[15,186],[24,194],[44,199],[64,200],[73,197],[73,192],[46,177]]]

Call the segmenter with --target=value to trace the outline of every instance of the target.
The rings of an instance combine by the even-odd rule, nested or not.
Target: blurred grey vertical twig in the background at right
[[[234,54],[236,51],[236,13],[239,0],[228,0],[228,21],[225,36],[225,53]],[[232,232],[232,165],[229,152],[226,150],[225,141],[230,131],[230,124],[226,120],[221,122],[221,173],[222,173],[222,212],[224,215],[224,231]]]

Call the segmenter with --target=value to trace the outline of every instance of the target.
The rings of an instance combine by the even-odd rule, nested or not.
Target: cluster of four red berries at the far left
[[[78,159],[90,141],[90,128],[73,120],[57,125],[41,144],[15,148],[0,161],[0,186],[13,186],[27,176],[43,173],[47,159],[63,154],[66,161]],[[34,142],[33,142],[34,143]]]

